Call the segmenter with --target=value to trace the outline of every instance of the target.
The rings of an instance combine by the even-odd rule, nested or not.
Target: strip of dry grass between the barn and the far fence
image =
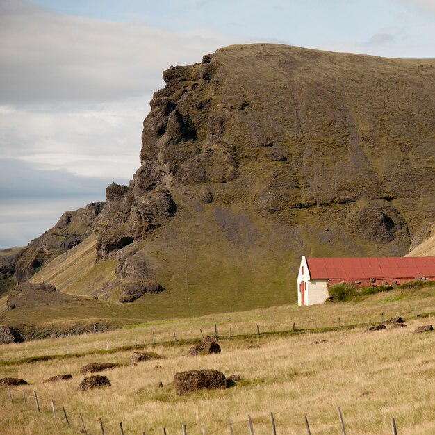
[[[65,354],[67,345],[71,353],[101,351],[134,345],[135,338],[139,345],[156,342],[172,342],[173,333],[178,340],[195,340],[203,334],[214,334],[214,325],[220,336],[228,336],[231,327],[232,336],[255,334],[256,325],[261,332],[291,331],[293,323],[297,330],[327,329],[340,325],[371,324],[384,319],[401,315],[404,318],[418,314],[435,313],[435,288],[395,289],[388,293],[377,293],[359,302],[340,304],[322,304],[310,307],[296,305],[275,306],[267,309],[240,311],[234,313],[218,313],[197,318],[170,318],[155,320],[124,329],[117,329],[105,334],[88,334],[67,336],[50,340],[32,340],[7,347],[0,346],[0,363],[29,356]],[[49,328],[49,324],[46,325]]]

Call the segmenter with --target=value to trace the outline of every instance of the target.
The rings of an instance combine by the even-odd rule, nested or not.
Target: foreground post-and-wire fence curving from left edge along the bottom
[[[49,397],[42,397],[38,395],[36,391],[32,391],[29,388],[14,388],[13,386],[6,386],[0,384],[2,387],[3,400],[9,401],[15,406],[24,407],[28,412],[33,412],[33,416],[45,416],[56,419],[59,425],[58,433],[82,433],[85,435],[109,435],[109,434],[120,434],[120,435],[146,435],[146,434],[161,434],[161,435],[172,435],[178,433],[180,435],[187,435],[188,432],[192,434],[202,434],[202,435],[213,435],[213,434],[223,434],[236,435],[237,434],[249,434],[258,435],[258,433],[268,433],[272,432],[272,435],[278,435],[279,432],[283,432],[282,429],[290,428],[295,429],[297,434],[307,434],[315,435],[320,433],[325,433],[324,429],[328,430],[329,434],[342,434],[342,435],[397,435],[397,426],[395,423],[395,418],[391,418],[391,430],[387,432],[384,430],[382,432],[373,431],[372,429],[367,429],[365,427],[355,425],[354,423],[347,425],[345,423],[345,418],[340,407],[337,408],[337,418],[336,421],[331,422],[319,422],[311,421],[307,416],[297,420],[280,420],[274,416],[274,413],[270,413],[268,416],[257,416],[252,418],[250,415],[247,416],[245,420],[232,421],[231,418],[227,418],[227,421],[222,423],[213,430],[207,430],[205,422],[197,422],[190,425],[189,431],[186,425],[181,424],[179,426],[179,432],[172,432],[170,434],[167,428],[164,426],[149,426],[147,430],[141,429],[136,425],[131,424],[131,422],[119,422],[113,423],[110,419],[92,418],[85,416],[84,413],[78,413],[71,411],[71,409],[66,409],[63,406],[55,403]],[[245,427],[244,427],[245,426]],[[334,432],[330,432],[329,429],[334,429]],[[69,431],[69,432],[65,432]],[[288,432],[286,432],[288,433]]]

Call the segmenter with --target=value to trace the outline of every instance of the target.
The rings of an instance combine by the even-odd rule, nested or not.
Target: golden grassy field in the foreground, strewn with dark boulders
[[[427,313],[427,317],[415,318],[416,305],[418,313]],[[2,345],[1,377],[21,377],[30,384],[26,387],[27,408],[21,390],[12,391],[10,403],[7,389],[0,389],[3,433],[73,434],[79,429],[81,413],[90,434],[99,433],[99,418],[104,421],[106,434],[120,433],[119,422],[126,434],[161,434],[163,427],[168,434],[181,434],[182,424],[190,434],[200,434],[202,425],[207,434],[229,433],[225,426],[231,418],[235,434],[241,435],[248,430],[247,414],[254,420],[256,434],[270,434],[269,413],[273,411],[279,434],[304,433],[304,416],[309,418],[312,434],[340,434],[336,409],[341,407],[349,434],[389,434],[391,416],[400,434],[433,434],[435,333],[414,335],[413,330],[419,325],[433,325],[435,319],[429,313],[434,311],[435,288],[392,290],[357,304],[271,307],[155,321],[105,334]],[[367,325],[349,326],[379,322],[381,313],[384,318],[404,316],[408,328],[368,333]],[[214,323],[222,352],[187,356],[188,348],[200,336],[199,328],[204,334],[213,334]],[[256,325],[264,332],[260,336],[255,334]],[[311,331],[301,331],[307,328]],[[156,345],[152,344],[153,332]],[[107,389],[87,393],[77,390],[83,378],[81,366],[90,362],[127,363],[135,338],[140,350],[156,352],[162,359],[104,372],[112,383]],[[320,339],[325,343],[313,344]],[[109,352],[104,351],[106,343]],[[121,348],[128,345],[131,349]],[[58,356],[24,363],[25,358],[37,355]],[[156,370],[156,364],[162,369]],[[238,373],[243,381],[224,391],[178,397],[174,374],[199,368],[215,368],[225,375]],[[43,384],[44,379],[63,372],[71,373],[73,379]],[[159,381],[163,388],[156,386]],[[40,414],[34,409],[33,390],[41,398]],[[51,399],[58,412],[56,420]],[[67,429],[60,418],[60,407],[67,410],[72,429]]]

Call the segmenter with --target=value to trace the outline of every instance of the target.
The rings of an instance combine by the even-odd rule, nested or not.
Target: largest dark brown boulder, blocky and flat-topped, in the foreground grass
[[[224,374],[210,369],[178,372],[175,374],[174,382],[178,395],[202,389],[227,388],[227,379]]]

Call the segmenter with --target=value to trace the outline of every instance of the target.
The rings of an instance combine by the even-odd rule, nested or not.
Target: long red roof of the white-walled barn
[[[435,277],[435,257],[306,258],[311,279]]]

